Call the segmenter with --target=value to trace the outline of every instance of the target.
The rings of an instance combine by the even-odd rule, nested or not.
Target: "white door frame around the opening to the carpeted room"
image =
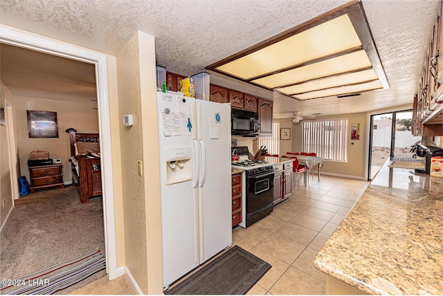
[[[107,57],[102,53],[78,48],[60,41],[0,26],[0,42],[37,50],[42,53],[75,59],[96,66],[98,124],[102,165],[103,214],[105,220],[105,256],[109,279],[117,277],[116,232],[114,221],[114,189],[112,187],[111,124],[107,82]]]

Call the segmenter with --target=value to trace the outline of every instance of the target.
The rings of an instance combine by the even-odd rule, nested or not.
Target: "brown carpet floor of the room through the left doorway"
[[[16,279],[78,257],[93,248],[105,252],[102,197],[80,204],[75,186],[39,190],[16,201],[1,231],[1,279]],[[106,275],[101,270],[66,294]]]

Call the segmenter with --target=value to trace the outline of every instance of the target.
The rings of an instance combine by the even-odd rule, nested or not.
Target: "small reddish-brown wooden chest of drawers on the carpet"
[[[30,192],[35,192],[35,189],[56,186],[64,188],[62,168],[63,165],[39,165],[36,167],[28,167]]]

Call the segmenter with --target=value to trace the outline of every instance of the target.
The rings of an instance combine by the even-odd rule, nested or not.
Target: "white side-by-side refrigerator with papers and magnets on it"
[[[157,93],[163,288],[232,244],[230,104]]]

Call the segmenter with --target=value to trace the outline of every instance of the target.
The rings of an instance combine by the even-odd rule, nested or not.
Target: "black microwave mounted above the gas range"
[[[230,110],[231,134],[253,137],[258,134],[258,113],[239,109]]]

